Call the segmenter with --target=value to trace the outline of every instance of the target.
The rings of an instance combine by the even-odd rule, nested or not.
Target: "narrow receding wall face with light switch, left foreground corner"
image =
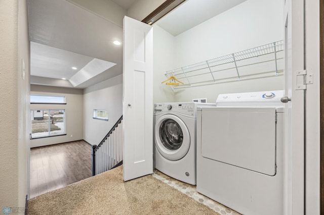
[[[30,184],[30,140],[29,140],[29,55],[27,1],[18,0],[18,59],[17,82],[18,88],[18,205],[25,205],[25,196],[29,193]],[[22,61],[25,75],[22,76]],[[13,86],[12,86],[13,87]],[[14,205],[13,205],[14,207]],[[1,208],[0,208],[1,209]]]

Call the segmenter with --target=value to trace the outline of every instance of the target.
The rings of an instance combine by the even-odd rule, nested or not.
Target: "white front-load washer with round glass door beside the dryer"
[[[215,103],[154,104],[155,168],[188,184],[196,184],[196,109]]]

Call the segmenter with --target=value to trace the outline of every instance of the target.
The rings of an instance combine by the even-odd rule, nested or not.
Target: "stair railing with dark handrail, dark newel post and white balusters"
[[[123,116],[102,141],[92,147],[92,176],[123,164]]]

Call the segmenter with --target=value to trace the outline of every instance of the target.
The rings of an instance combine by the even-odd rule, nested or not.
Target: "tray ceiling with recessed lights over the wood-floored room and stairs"
[[[53,83],[86,88],[123,73],[123,46],[112,43],[123,41],[123,28],[88,10],[66,0],[28,0],[28,27],[31,83],[42,84],[43,80],[51,85],[49,78],[66,78],[66,83]],[[69,79],[94,59],[115,65],[99,74],[89,71],[86,80],[73,86]]]

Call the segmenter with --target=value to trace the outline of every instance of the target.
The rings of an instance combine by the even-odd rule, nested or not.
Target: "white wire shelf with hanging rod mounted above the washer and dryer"
[[[235,52],[230,55],[170,70],[165,72],[165,75],[168,78],[170,78],[171,76],[175,76],[179,80],[182,79],[182,81],[184,82],[183,85],[174,86],[175,88],[181,88],[183,86],[188,87],[218,83],[219,81],[223,82],[224,79],[229,79],[230,81],[233,81],[234,78],[235,80],[239,81],[241,80],[241,76],[244,77],[244,79],[249,79],[249,76],[250,78],[253,78],[253,76],[259,77],[259,74],[265,72],[255,71],[254,73],[250,73],[249,75],[247,75],[245,73],[240,74],[238,69],[256,64],[266,64],[269,62],[274,62],[275,67],[271,66],[270,68],[270,66],[267,66],[268,70],[270,69],[270,71],[268,72],[275,71],[274,75],[278,76],[282,73],[283,70],[278,68],[278,62],[283,61],[284,59],[283,56],[278,55],[278,53],[282,50],[284,50],[284,41],[279,40],[269,44]],[[261,56],[270,56],[270,58],[264,58]],[[253,58],[257,57],[261,58],[258,58],[257,61],[253,60]],[[246,63],[242,63],[242,61],[246,61]],[[279,67],[280,66],[281,65],[279,65]],[[221,77],[218,77],[218,74],[216,72],[224,71],[231,72],[229,72],[228,77],[226,77],[226,75],[224,77],[224,74],[222,74]],[[233,76],[233,72],[235,73],[236,77]],[[197,77],[199,76],[201,77],[197,79]],[[204,76],[204,78],[202,78],[202,76]]]

